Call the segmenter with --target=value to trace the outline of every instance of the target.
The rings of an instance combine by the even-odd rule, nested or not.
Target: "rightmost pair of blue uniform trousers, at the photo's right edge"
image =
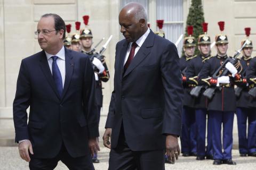
[[[256,151],[256,112],[255,108],[237,107],[237,128],[240,154]],[[248,119],[248,130],[246,135]]]

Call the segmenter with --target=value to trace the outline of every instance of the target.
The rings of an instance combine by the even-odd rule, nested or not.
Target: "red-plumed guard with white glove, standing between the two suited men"
[[[107,82],[109,80],[108,67],[105,61],[105,56],[93,53],[92,50],[92,31],[87,27],[89,22],[89,15],[83,16],[85,29],[81,31],[80,40],[82,43],[82,53],[89,55],[92,64],[94,65],[94,74],[96,80],[95,98],[98,106],[98,118],[100,120],[100,110],[102,107],[103,95],[102,95],[102,81]],[[97,154],[94,154],[92,158],[93,163],[99,163]]]

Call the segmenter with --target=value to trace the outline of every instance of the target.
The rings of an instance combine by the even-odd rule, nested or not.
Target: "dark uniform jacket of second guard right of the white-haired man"
[[[203,64],[206,60],[207,57],[204,57],[202,55],[198,55],[190,60],[186,70],[189,84],[194,84],[195,86],[202,86],[202,84],[200,84],[198,81],[198,74],[202,70]],[[201,91],[198,97],[193,97],[194,108],[207,108],[207,98],[203,96],[204,90]]]

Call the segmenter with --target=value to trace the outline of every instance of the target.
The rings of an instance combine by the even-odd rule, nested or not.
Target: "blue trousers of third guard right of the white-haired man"
[[[212,123],[213,159],[231,159],[234,112],[209,111],[209,115]],[[222,124],[223,151],[221,145]]]

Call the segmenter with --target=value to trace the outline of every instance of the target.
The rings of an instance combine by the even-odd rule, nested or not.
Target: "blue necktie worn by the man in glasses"
[[[57,58],[58,56],[52,56],[52,75],[53,75],[53,79],[54,82],[56,84],[57,90],[59,92],[59,95],[61,97],[62,94],[62,79],[61,79],[61,74],[60,74],[60,69],[57,65]]]

